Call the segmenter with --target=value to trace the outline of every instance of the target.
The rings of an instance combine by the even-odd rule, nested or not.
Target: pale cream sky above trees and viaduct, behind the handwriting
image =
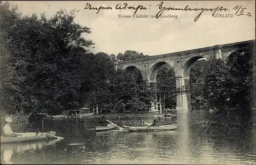
[[[117,55],[131,50],[152,56],[255,39],[255,1],[163,1],[162,8],[227,9],[216,11],[215,17],[213,12],[203,11],[197,21],[194,19],[201,11],[165,10],[162,16],[167,18],[151,18],[161,10],[157,5],[162,1],[10,2],[18,5],[18,11],[24,15],[45,13],[48,18],[60,9],[79,10],[75,22],[91,28],[92,33],[83,37],[95,43],[93,53]],[[84,9],[87,3],[91,7],[111,7],[112,10],[101,9],[97,14],[97,10]],[[124,7],[124,3],[127,4],[125,9],[116,9],[118,4]],[[134,18],[135,10],[127,8],[139,5],[146,9],[138,9],[136,14],[148,15],[148,18]],[[239,15],[242,9],[245,15]],[[120,18],[118,14],[131,15],[131,18]]]

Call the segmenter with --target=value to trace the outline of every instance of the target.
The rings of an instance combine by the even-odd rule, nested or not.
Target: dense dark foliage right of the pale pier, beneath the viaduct
[[[200,108],[216,107],[237,114],[253,108],[253,56],[253,50],[241,49],[229,55],[226,60],[196,62],[190,70],[190,83],[203,83],[205,92],[191,93],[191,105]]]

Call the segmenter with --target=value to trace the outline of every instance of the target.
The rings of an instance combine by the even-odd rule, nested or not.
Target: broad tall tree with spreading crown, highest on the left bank
[[[81,34],[91,33],[90,28],[74,22],[75,10],[61,10],[48,20],[44,14],[21,17],[2,3],[1,9],[1,19],[9,21],[9,26],[1,24],[5,49],[11,54],[5,65],[15,70],[10,72],[13,78],[4,78],[11,86],[4,90],[12,90],[12,112],[79,107],[81,66],[87,54],[83,46],[93,45]]]

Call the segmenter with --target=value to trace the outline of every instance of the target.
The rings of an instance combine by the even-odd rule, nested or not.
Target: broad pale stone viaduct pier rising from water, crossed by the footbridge
[[[186,89],[180,88],[189,84],[189,77],[176,77],[176,88],[185,91]],[[190,93],[184,93],[177,96],[176,101],[177,113],[187,113],[191,110]]]

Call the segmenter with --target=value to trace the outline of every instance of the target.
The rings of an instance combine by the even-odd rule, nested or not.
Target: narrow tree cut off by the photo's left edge
[[[22,91],[20,90],[18,72],[15,69],[15,57],[10,49],[11,32],[20,20],[20,13],[16,6],[9,2],[0,2],[0,96],[1,110],[16,112],[16,102],[22,102]]]

